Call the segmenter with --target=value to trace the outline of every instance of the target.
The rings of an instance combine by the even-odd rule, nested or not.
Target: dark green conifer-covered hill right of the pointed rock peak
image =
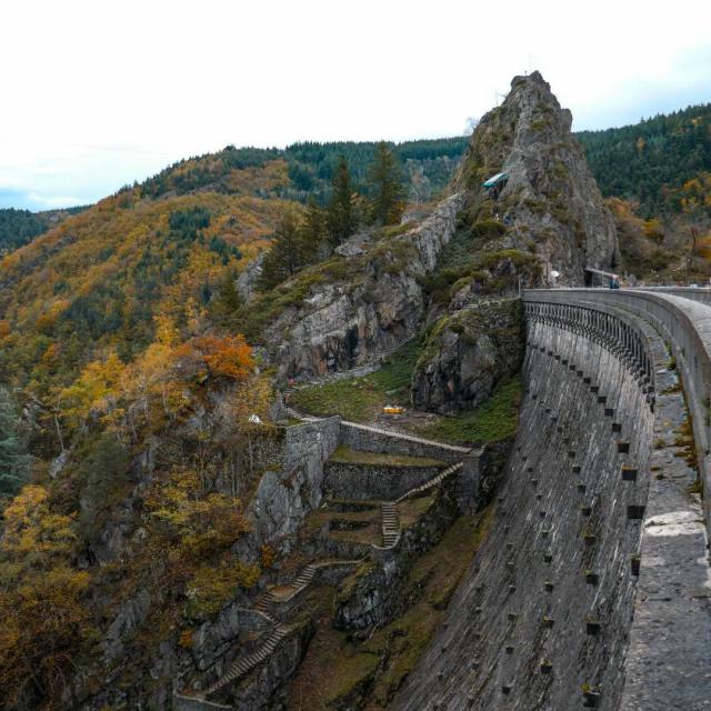
[[[639,201],[649,218],[674,209],[669,189],[711,170],[711,103],[577,138],[602,193]]]

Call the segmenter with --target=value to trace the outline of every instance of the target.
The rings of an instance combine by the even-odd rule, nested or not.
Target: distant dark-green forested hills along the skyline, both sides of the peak
[[[639,202],[644,218],[679,211],[674,190],[711,170],[711,104],[690,107],[639,123],[577,134],[602,193]],[[468,138],[389,143],[402,167],[408,198],[429,201],[442,194],[457,170]],[[189,158],[141,184],[147,197],[196,190],[279,197],[323,204],[340,156],[346,156],[357,189],[364,190],[374,142],[293,143],[286,149],[236,148]],[[138,184],[133,186],[138,188]],[[0,210],[0,254],[7,253],[84,208],[32,213]]]

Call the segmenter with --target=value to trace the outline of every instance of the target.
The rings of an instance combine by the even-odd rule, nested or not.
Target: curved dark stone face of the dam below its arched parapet
[[[653,413],[587,336],[530,321],[528,346],[495,527],[397,709],[582,708],[583,684],[619,707],[648,485],[621,472],[645,471]]]

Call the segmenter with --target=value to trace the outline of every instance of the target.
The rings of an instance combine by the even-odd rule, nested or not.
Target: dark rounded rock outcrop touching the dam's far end
[[[413,405],[444,414],[475,408],[502,378],[519,370],[523,344],[519,301],[494,301],[440,318],[412,374]]]

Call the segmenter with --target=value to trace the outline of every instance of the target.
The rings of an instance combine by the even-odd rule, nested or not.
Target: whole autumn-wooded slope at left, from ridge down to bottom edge
[[[123,190],[0,261],[0,709],[76,708],[60,699],[111,658],[127,599],[152,602],[128,672],[142,680],[183,612],[204,619],[259,577],[230,548],[270,383],[231,322],[234,278],[301,206],[232,177],[231,194]]]

